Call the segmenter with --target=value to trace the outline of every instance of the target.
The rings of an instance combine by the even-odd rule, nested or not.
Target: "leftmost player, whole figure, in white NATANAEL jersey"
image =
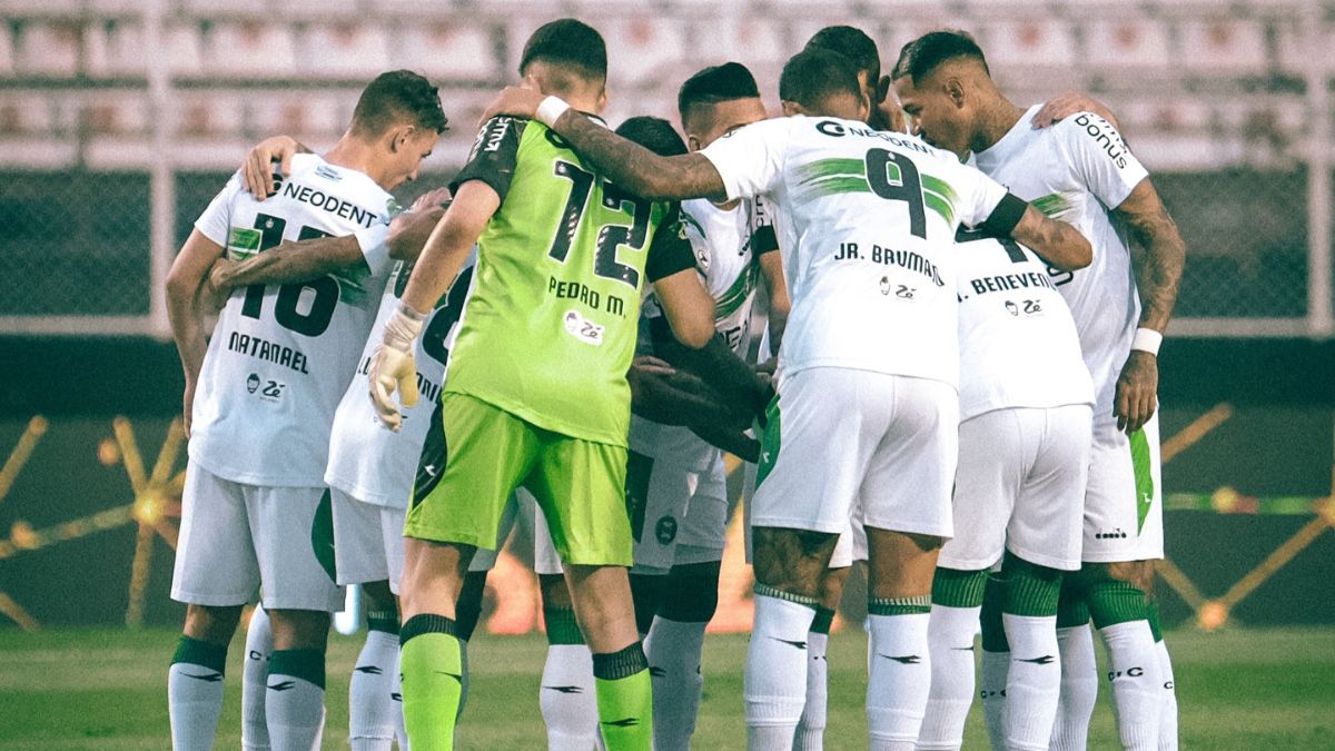
[[[342,593],[314,539],[334,406],[356,366],[388,273],[368,250],[344,274],[234,293],[206,345],[200,298],[224,253],[280,239],[358,233],[384,249],[390,188],[417,175],[446,127],[437,90],[407,71],[366,87],[352,123],[323,158],[260,204],[234,176],[195,223],[167,278],[186,370],[190,472],[172,597],[187,604],[168,673],[172,740],[212,744],[227,644],[256,588],[272,621],[266,722],[274,748],[312,748],[323,727],[324,641]],[[327,548],[326,548],[327,552]]]

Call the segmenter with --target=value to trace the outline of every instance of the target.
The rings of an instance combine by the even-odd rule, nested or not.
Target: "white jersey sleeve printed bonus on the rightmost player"
[[[1121,206],[1140,180],[1149,176],[1112,123],[1079,112],[1053,126],[1061,135],[1072,170],[1108,208]]]

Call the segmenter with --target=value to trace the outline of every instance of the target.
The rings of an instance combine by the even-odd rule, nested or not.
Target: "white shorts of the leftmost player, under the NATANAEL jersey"
[[[260,488],[198,464],[186,472],[171,596],[194,605],[338,612],[332,529],[316,525],[324,488]],[[326,564],[320,563],[326,559]]]

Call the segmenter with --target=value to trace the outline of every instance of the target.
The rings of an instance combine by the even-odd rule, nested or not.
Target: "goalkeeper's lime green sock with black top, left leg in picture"
[[[463,657],[453,619],[410,617],[399,631],[403,724],[417,751],[451,751],[463,690]]]

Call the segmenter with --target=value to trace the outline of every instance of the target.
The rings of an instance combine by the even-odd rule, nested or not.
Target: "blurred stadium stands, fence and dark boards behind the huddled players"
[[[784,60],[838,23],[885,67],[925,31],[964,28],[1016,103],[1107,102],[1188,243],[1160,358],[1165,620],[1335,623],[1330,3],[0,0],[0,633],[180,623],[162,282],[248,144],[326,148],[367,80],[417,69],[453,130],[406,203],[462,163],[523,40],[561,15],[607,40],[614,124],[676,122],[678,84],[728,59],[777,111]],[[511,568],[507,591],[530,597]],[[493,631],[537,627],[531,600],[494,607]]]

